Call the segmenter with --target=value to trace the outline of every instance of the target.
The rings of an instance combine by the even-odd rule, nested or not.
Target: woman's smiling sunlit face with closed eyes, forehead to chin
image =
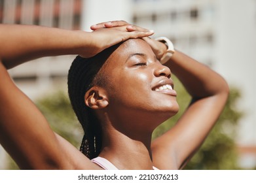
[[[156,59],[147,42],[124,42],[111,54],[104,70],[111,81],[106,88],[108,108],[115,116],[163,122],[179,110],[171,71]]]

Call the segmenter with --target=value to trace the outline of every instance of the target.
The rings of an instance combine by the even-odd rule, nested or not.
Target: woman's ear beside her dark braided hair
[[[109,105],[107,93],[103,88],[93,86],[84,95],[84,103],[93,109],[105,108]]]

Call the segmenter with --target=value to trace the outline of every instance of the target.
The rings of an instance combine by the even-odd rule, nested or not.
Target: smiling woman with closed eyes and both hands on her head
[[[228,97],[221,76],[177,50],[162,65],[166,45],[126,22],[94,25],[92,33],[17,27],[21,36],[13,28],[0,28],[0,142],[21,169],[181,169]],[[6,71],[62,54],[80,55],[69,71],[69,97],[85,131],[86,156],[50,129]],[[192,103],[172,129],[151,142],[153,130],[179,108],[170,69]]]

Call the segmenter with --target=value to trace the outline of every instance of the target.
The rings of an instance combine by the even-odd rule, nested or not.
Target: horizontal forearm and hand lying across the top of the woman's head
[[[43,56],[80,54],[85,58],[130,38],[152,35],[153,31],[127,31],[128,25],[94,32],[69,31],[35,25],[0,24],[0,58],[7,69]]]

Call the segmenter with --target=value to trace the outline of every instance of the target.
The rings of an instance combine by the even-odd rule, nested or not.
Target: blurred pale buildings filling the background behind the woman
[[[240,89],[242,100],[238,108],[246,112],[236,140],[241,152],[240,165],[246,169],[255,167],[256,1],[0,0],[0,23],[4,24],[90,31],[90,25],[109,20],[126,20],[155,30],[155,37],[170,38],[175,48],[209,65],[230,86]],[[53,88],[66,87],[67,70],[73,58],[43,58],[44,61],[24,63],[9,72],[16,84],[35,99]]]

